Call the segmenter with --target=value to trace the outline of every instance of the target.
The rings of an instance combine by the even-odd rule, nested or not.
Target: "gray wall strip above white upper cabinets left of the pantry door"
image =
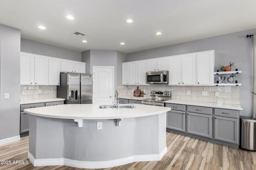
[[[20,39],[20,51],[61,59],[81,61],[81,52],[24,38]]]

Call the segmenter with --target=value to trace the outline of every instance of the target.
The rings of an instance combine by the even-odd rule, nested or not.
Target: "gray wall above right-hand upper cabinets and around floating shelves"
[[[237,76],[238,82],[242,83],[240,88],[240,104],[244,108],[241,115],[251,115],[252,109],[252,84],[253,84],[253,39],[246,35],[253,35],[256,29],[241,31],[237,33],[221,35],[217,37],[190,41],[156,49],[149,49],[127,54],[126,61],[137,61],[180,55],[198,51],[215,50],[215,70],[219,65],[235,62],[236,68],[242,70]],[[233,68],[234,69],[234,68]],[[228,75],[229,76],[229,75]]]

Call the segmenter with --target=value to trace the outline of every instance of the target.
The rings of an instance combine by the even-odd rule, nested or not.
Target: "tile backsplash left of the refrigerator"
[[[41,93],[39,91],[41,90]],[[20,86],[20,100],[56,98],[57,86]]]

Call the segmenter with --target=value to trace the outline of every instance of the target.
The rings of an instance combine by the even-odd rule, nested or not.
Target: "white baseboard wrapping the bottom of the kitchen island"
[[[89,169],[100,169],[100,168],[110,168],[114,166],[120,166],[124,164],[129,164],[132,162],[140,161],[157,161],[161,160],[164,154],[167,152],[167,147],[160,152],[160,154],[149,154],[149,155],[135,155],[126,158],[109,160],[109,161],[98,161],[98,162],[88,162],[71,160],[66,158],[47,158],[47,159],[35,159],[34,156],[28,152],[28,159],[34,166],[54,166],[54,165],[66,165],[75,168],[89,168]]]

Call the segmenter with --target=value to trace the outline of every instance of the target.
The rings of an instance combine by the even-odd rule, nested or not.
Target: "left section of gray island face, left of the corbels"
[[[29,136],[36,145],[31,146],[29,152],[30,150],[34,152],[35,147],[35,154],[30,152],[35,159],[64,158],[64,124],[68,120],[34,115],[30,117],[30,125],[32,124],[30,129],[33,131]]]

